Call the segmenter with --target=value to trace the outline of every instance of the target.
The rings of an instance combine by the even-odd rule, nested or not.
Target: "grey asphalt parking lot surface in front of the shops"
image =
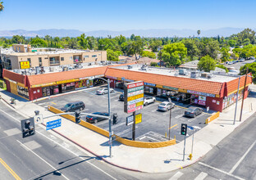
[[[97,95],[97,88],[88,88],[79,92],[72,92],[59,97],[53,97],[42,101],[35,102],[39,106],[47,108],[48,105],[61,109],[68,102],[72,101],[84,101],[85,113],[94,112],[107,112],[107,94]],[[111,93],[111,110],[112,113],[117,113],[117,124],[112,125],[112,131],[120,137],[131,139],[132,137],[132,125],[126,126],[126,117],[132,114],[126,114],[124,112],[124,102],[119,101],[121,90],[115,89],[115,92]],[[158,105],[164,101],[161,98],[157,98],[157,101],[149,106],[144,106],[142,110],[136,113],[142,114],[142,122],[135,125],[135,137],[136,141],[142,142],[162,142],[168,140],[169,133],[169,120],[170,110],[166,112],[158,111]],[[171,110],[171,138],[176,137],[176,142],[180,142],[184,139],[181,136],[181,124],[188,124],[194,127],[194,132],[203,128],[205,119],[210,115],[208,113],[202,113],[195,118],[188,118],[184,116],[185,107],[175,106]],[[85,120],[85,116],[82,116]],[[108,131],[108,120],[103,120],[94,124],[100,128]],[[188,135],[192,135],[193,131],[188,128]]]

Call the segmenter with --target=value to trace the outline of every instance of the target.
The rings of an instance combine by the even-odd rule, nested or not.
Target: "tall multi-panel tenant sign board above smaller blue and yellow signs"
[[[125,83],[124,96],[126,113],[141,110],[144,106],[144,83],[142,81]]]

